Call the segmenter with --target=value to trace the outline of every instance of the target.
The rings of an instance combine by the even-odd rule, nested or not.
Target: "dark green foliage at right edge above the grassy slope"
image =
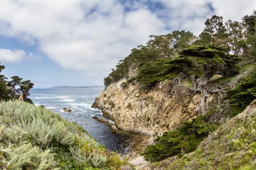
[[[245,108],[254,99],[256,99],[256,68],[251,72],[250,76],[242,79],[240,83],[227,92],[227,98],[230,103],[236,107]]]

